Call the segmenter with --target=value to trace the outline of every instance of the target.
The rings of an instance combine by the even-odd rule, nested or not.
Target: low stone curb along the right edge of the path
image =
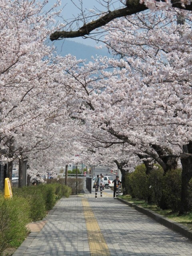
[[[186,226],[184,226],[174,220],[169,220],[166,217],[162,217],[162,215],[160,215],[158,213],[154,213],[152,210],[147,210],[146,208],[143,208],[142,206],[138,206],[136,204],[130,203],[122,198],[118,197],[117,199],[119,201],[121,201],[122,203],[127,204],[130,207],[133,207],[138,212],[141,212],[141,213],[146,214],[147,216],[153,218],[154,220],[156,220],[160,224],[166,226],[167,228],[170,228],[170,229],[182,234],[183,236],[186,236],[190,240],[192,240],[192,231],[190,231],[189,228],[187,228]]]

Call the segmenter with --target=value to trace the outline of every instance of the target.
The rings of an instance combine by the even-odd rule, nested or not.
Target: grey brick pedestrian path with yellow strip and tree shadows
[[[13,256],[187,256],[192,242],[111,197],[60,199]]]

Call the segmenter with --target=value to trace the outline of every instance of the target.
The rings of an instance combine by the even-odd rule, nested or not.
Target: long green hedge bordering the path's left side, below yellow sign
[[[41,184],[12,188],[13,198],[4,199],[0,193],[0,254],[7,247],[18,247],[25,239],[26,224],[41,220],[71,188],[63,184]]]

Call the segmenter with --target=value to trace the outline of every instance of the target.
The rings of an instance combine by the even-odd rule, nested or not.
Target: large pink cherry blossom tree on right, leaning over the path
[[[177,14],[141,13],[109,24],[106,43],[123,58],[96,59],[100,69],[94,65],[94,73],[100,70],[102,79],[90,77],[90,66],[70,73],[77,81],[76,90],[84,91],[76,116],[86,118],[86,132],[92,128],[88,135],[92,145],[127,143],[135,154],[148,154],[164,171],[176,168],[176,158],[181,157],[183,167],[185,159],[190,160],[182,148],[191,141],[191,29],[177,22]],[[191,22],[187,12],[182,15]],[[114,69],[106,71],[109,67]],[[110,140],[105,140],[106,134]],[[185,195],[189,168],[190,164],[183,168]]]

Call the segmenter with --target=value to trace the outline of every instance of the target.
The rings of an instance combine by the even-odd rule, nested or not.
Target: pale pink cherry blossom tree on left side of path
[[[74,98],[72,78],[65,71],[72,68],[74,60],[56,56],[54,48],[46,44],[60,13],[54,8],[60,2],[48,12],[45,4],[34,0],[1,2],[0,153],[1,161],[8,163],[10,179],[13,161],[19,161],[21,173],[23,160],[39,156],[41,151],[47,155],[49,149],[45,160],[50,160],[55,147],[63,150],[64,143],[58,146],[61,132],[69,131],[75,123],[68,115],[68,102]],[[68,134],[69,141],[70,137]]]

